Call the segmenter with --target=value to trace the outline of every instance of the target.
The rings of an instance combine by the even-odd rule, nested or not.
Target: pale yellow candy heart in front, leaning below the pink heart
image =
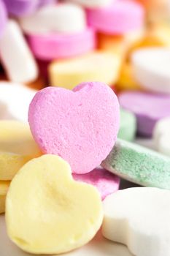
[[[9,238],[26,252],[57,254],[80,247],[103,220],[97,189],[74,181],[61,157],[44,155],[24,165],[7,193]]]

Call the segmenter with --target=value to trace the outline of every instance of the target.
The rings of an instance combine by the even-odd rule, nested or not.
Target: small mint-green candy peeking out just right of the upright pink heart
[[[134,140],[136,135],[136,116],[133,113],[120,108],[120,129],[118,138],[123,140]]]

